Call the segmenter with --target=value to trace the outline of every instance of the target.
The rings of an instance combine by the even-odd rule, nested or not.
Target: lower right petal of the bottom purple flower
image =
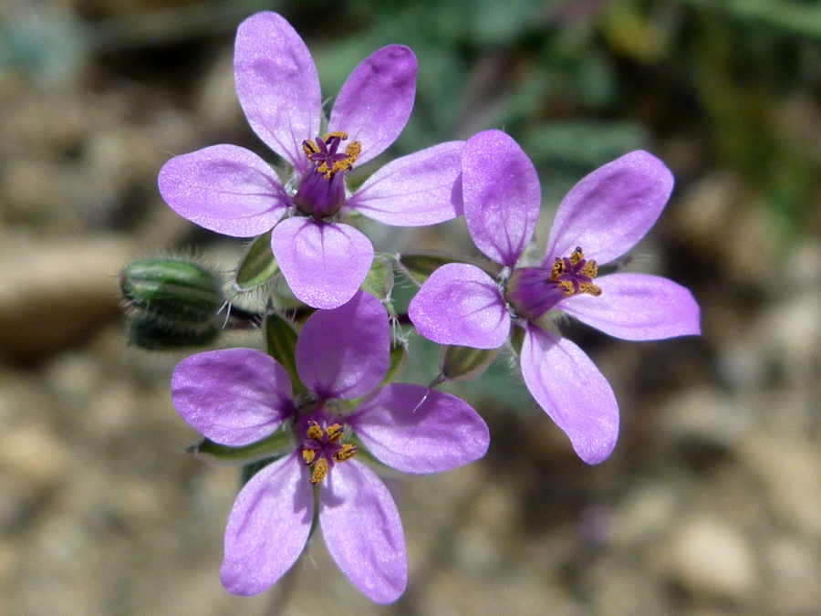
[[[408,554],[388,488],[356,460],[334,465],[319,492],[319,523],[339,569],[377,603],[400,598]]]

